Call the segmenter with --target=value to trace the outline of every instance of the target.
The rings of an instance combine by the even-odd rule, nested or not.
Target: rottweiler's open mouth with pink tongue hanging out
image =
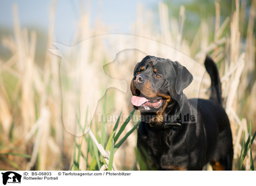
[[[165,99],[162,97],[156,97],[153,99],[147,99],[145,98],[139,90],[136,90],[136,95],[132,96],[131,103],[136,106],[140,107],[143,106],[145,108],[160,108],[165,102]]]

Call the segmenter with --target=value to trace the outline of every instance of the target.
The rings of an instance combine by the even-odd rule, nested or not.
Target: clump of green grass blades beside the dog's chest
[[[123,144],[123,142],[125,142],[125,140],[129,137],[129,135],[131,133],[133,133],[134,130],[140,124],[140,122],[137,122],[137,124],[134,125],[134,127],[130,131],[128,131],[128,133],[126,133],[125,136],[122,137],[122,139],[118,140],[120,135],[122,133],[124,133],[125,126],[131,120],[131,118],[134,114],[134,111],[135,110],[133,110],[130,113],[128,118],[125,120],[125,122],[121,125],[121,127],[117,131],[117,128],[119,126],[120,116],[118,117],[116,124],[114,125],[113,130],[111,132],[111,135],[108,137],[106,145],[104,142],[102,142],[101,144],[98,144],[98,141],[104,141],[104,139],[102,140],[102,138],[105,138],[104,135],[96,136],[95,139],[94,139],[94,136],[93,137],[91,136],[92,139],[94,139],[94,140],[91,140],[90,137],[86,137],[85,135],[83,135],[84,141],[87,142],[87,145],[88,145],[88,148],[86,151],[86,156],[82,153],[82,149],[81,149],[81,143],[83,141],[81,141],[79,144],[77,142],[77,139],[75,138],[75,149],[74,149],[73,164],[71,166],[71,170],[83,169],[83,168],[79,168],[80,167],[80,158],[83,158],[87,162],[88,157],[91,158],[91,163],[87,164],[86,170],[108,169],[111,171],[112,167],[114,168],[113,170],[117,170],[116,165],[114,163],[114,159],[113,159],[114,154],[117,151],[117,149]],[[120,115],[121,115],[121,113],[120,113]],[[82,128],[82,126],[80,126],[80,130],[84,131],[84,128]],[[101,131],[101,133],[102,132],[105,133],[105,131]],[[96,144],[95,144],[95,140],[96,140]],[[90,148],[90,144],[92,144],[93,147]],[[98,148],[99,148],[100,154],[98,152],[97,146],[99,146]],[[105,149],[106,153],[104,150],[102,152],[101,148]],[[76,155],[76,152],[78,152],[77,155]]]

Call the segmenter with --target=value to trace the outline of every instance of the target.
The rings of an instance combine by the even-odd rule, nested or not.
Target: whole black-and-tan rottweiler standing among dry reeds
[[[204,62],[211,78],[209,99],[187,99],[192,74],[177,61],[146,56],[134,68],[131,102],[140,110],[137,147],[158,170],[232,170],[233,142],[221,105],[221,81],[214,61]],[[184,120],[183,117],[189,118]]]

